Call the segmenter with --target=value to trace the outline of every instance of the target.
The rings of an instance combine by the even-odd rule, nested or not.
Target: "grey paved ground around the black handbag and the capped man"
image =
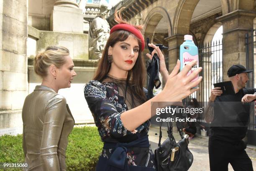
[[[151,147],[153,151],[157,147],[159,134],[155,135],[155,133],[159,133],[158,127],[151,127],[149,129],[149,140],[151,142]],[[167,138],[167,133],[163,131],[163,138],[165,140]],[[180,140],[180,136],[178,133],[174,133],[174,138],[176,140]],[[193,153],[194,161],[192,166],[189,168],[189,171],[210,171],[209,167],[209,154],[208,154],[208,138],[202,138],[199,136],[195,136],[195,138],[189,141],[189,150]],[[256,171],[256,147],[249,146],[246,148],[246,152],[248,156],[251,158],[253,163],[253,170]],[[232,166],[229,164],[229,171],[233,171]]]

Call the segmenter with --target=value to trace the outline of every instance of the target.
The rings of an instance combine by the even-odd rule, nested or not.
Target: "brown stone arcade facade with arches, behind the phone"
[[[176,64],[179,46],[183,43],[185,34],[195,36],[198,45],[205,41],[212,27],[215,27],[212,30],[214,32],[221,25],[223,73],[227,73],[231,64],[246,65],[245,33],[253,28],[253,19],[256,17],[254,0],[124,0],[115,9],[123,6],[126,7],[123,15],[131,23],[137,23],[138,14],[141,16],[140,23],[145,26],[145,37],[154,40],[164,33],[162,43],[168,43],[169,71]],[[113,26],[113,15],[109,20]],[[208,37],[208,41],[211,38]],[[228,79],[226,75],[223,77],[224,80]]]

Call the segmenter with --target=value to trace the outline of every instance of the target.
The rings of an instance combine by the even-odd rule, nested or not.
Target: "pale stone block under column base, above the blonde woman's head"
[[[83,13],[75,0],[57,0],[51,13],[50,30],[83,33]]]

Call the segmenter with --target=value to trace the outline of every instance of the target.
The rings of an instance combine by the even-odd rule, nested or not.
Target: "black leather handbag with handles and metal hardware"
[[[189,136],[183,135],[181,123],[177,122],[176,125],[182,139],[176,143],[172,134],[172,126],[167,123],[168,138],[161,144],[161,124],[159,144],[155,150],[157,171],[187,171],[193,162],[193,155],[188,149]]]

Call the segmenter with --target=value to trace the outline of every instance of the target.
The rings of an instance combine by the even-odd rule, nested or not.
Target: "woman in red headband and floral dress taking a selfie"
[[[121,9],[122,10],[122,9]],[[161,93],[147,99],[143,88],[146,77],[141,52],[144,49],[142,26],[132,26],[115,11],[117,25],[110,30],[110,37],[100,59],[96,75],[84,88],[84,97],[98,127],[104,147],[97,164],[97,171],[155,171],[154,153],[148,142],[151,102],[179,102],[192,94],[201,81],[190,82],[200,71],[188,77],[187,72],[196,61],[187,64],[178,74],[180,62],[169,75],[164,56],[154,44],[152,54],[158,53],[160,72],[166,82]],[[157,104],[157,103],[154,103]],[[163,103],[161,103],[163,104]]]

